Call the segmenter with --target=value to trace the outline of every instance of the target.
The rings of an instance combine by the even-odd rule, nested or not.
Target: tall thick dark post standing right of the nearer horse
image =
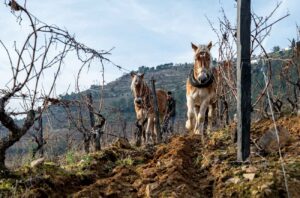
[[[251,0],[238,0],[237,14],[237,160],[243,162],[250,155]]]

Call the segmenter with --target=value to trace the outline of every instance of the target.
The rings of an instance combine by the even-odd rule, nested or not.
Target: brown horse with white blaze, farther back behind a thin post
[[[157,131],[154,124],[155,112],[153,95],[151,89],[144,81],[144,74],[131,72],[131,90],[134,97],[134,108],[137,122],[143,125],[142,123],[147,120],[146,137],[143,134],[144,141],[149,142],[151,136],[152,141],[155,143]],[[156,91],[156,96],[159,114],[160,117],[162,117],[166,111],[167,93],[158,89]]]

